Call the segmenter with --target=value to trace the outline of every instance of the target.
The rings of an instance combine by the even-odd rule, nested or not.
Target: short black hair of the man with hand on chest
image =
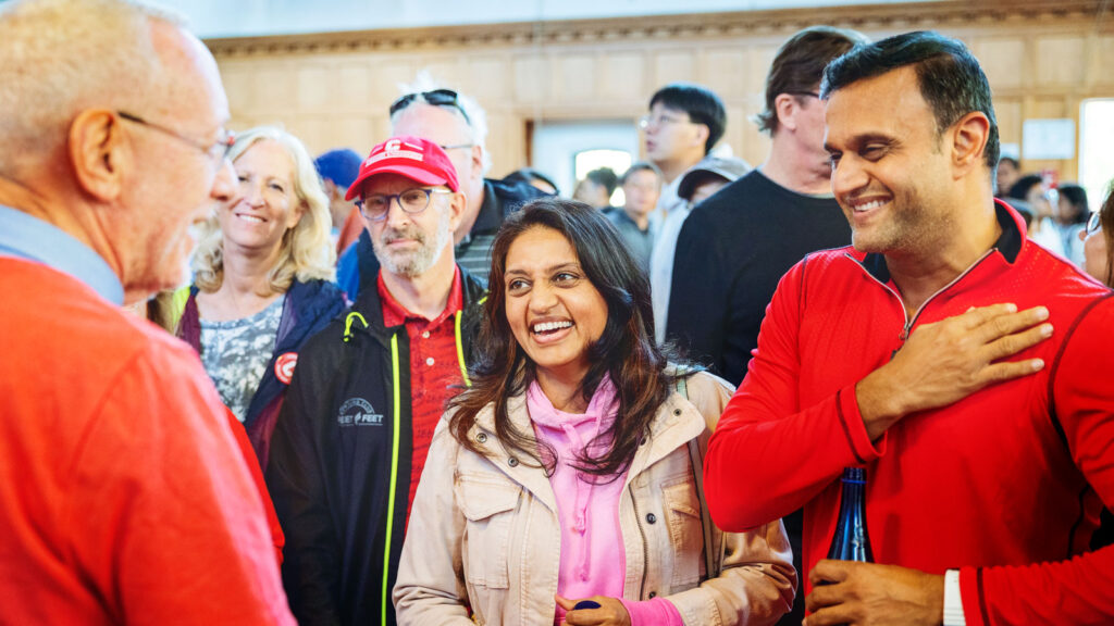
[[[990,84],[978,59],[957,39],[932,31],[917,31],[859,46],[828,65],[820,85],[820,97],[827,99],[852,82],[906,66],[916,66],[920,95],[936,117],[937,136],[971,111],[986,115],[990,133],[983,157],[994,172],[1000,148]]]

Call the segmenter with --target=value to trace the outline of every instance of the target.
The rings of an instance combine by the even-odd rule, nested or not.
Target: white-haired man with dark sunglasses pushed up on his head
[[[409,135],[439,145],[452,162],[466,206],[453,232],[456,258],[461,267],[487,282],[491,242],[505,215],[526,202],[545,195],[522,183],[485,178],[491,167],[487,154],[487,114],[471,98],[451,89],[436,89],[428,77],[419,77],[426,90],[414,89],[391,104],[391,135]],[[338,264],[341,288],[353,300],[374,276],[378,260],[371,239],[361,235]]]

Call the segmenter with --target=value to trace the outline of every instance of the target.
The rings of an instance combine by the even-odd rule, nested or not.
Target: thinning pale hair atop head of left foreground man
[[[61,149],[85,109],[141,109],[149,94],[166,97],[174,77],[163,71],[152,21],[185,25],[138,0],[0,4],[0,175],[18,178]]]

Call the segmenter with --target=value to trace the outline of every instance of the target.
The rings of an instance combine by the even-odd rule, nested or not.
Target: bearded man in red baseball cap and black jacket
[[[437,144],[375,146],[346,197],[379,260],[378,288],[302,349],[266,477],[299,622],[394,624],[410,505],[444,403],[469,382],[485,290],[453,258],[467,199]]]

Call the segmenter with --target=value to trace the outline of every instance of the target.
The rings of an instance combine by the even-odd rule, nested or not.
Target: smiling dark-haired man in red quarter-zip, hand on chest
[[[782,278],[710,444],[713,518],[804,506],[809,625],[1114,623],[1114,548],[1086,551],[1114,505],[1114,300],[995,204],[961,43],[856,48],[823,97],[853,248]],[[878,564],[821,560],[847,466]]]

